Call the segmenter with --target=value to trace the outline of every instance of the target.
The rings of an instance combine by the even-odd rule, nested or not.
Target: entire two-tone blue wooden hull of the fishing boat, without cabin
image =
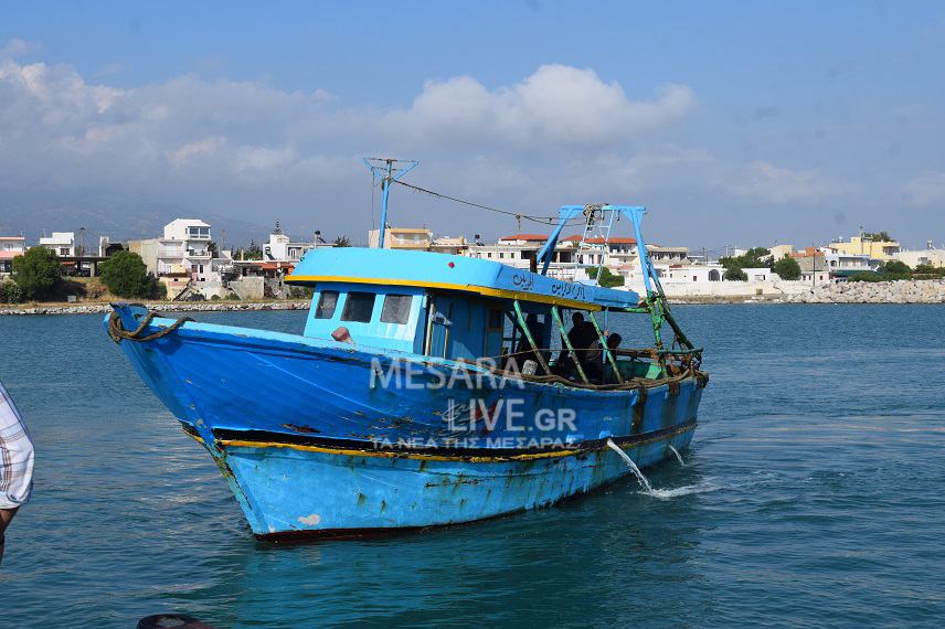
[[[146,311],[116,312],[134,330]],[[173,321],[153,319],[141,334]],[[259,537],[458,524],[591,491],[630,472],[608,440],[640,468],[687,447],[705,384],[698,373],[620,391],[506,379],[379,384],[393,364],[408,363],[422,383],[457,365],[206,323],[119,344],[208,449]],[[516,412],[498,417],[511,399]],[[457,405],[465,422],[450,415]]]

